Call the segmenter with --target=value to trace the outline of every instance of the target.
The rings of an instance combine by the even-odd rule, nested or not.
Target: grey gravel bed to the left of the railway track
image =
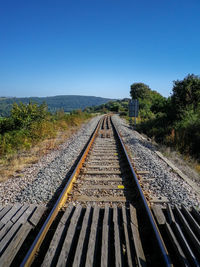
[[[84,124],[57,150],[25,168],[19,177],[0,183],[0,205],[16,202],[43,205],[48,203],[87,143],[99,119],[98,116]]]

